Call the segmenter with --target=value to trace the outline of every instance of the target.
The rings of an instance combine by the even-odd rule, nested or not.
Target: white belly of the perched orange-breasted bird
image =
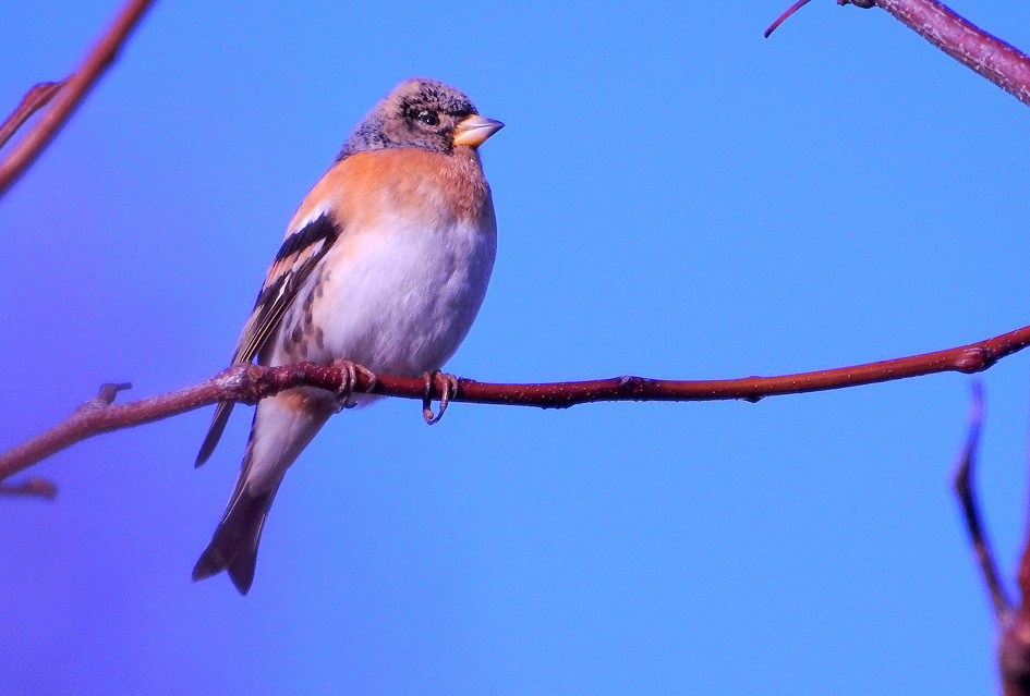
[[[338,240],[314,273],[322,272],[322,286],[308,290],[322,334],[308,329],[306,355],[277,349],[274,364],[346,358],[375,373],[417,377],[455,353],[486,294],[496,230],[457,223],[426,230],[398,220],[386,229]],[[306,300],[299,296],[295,306]],[[280,335],[304,314],[289,313]]]

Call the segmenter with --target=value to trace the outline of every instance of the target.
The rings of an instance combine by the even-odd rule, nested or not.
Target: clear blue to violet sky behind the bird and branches
[[[0,29],[3,111],[114,9],[31,4]],[[811,3],[765,40],[786,1],[210,4],[155,8],[0,202],[0,447],[102,382],[222,368],[295,206],[411,75],[508,124],[482,150],[499,249],[461,376],[773,375],[1030,323],[1027,108],[882,11]],[[1030,47],[1030,5],[953,7]],[[1028,361],[983,378],[1006,569]],[[949,490],[968,384],[347,413],[290,472],[242,599],[190,571],[249,417],[199,471],[209,410],[98,438],[37,467],[54,502],[0,501],[0,686],[991,693]]]

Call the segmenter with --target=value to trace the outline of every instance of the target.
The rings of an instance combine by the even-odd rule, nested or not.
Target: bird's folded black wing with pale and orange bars
[[[341,225],[325,210],[312,216],[308,222],[287,235],[282,247],[276,254],[276,260],[268,269],[268,277],[254,303],[251,318],[243,327],[243,333],[232,356],[233,364],[250,363],[262,352],[268,339],[275,334],[282,315],[293,303],[298,291],[308,281],[312,271],[339,239],[340,233]],[[232,402],[218,404],[195,466],[201,466],[215,451],[230,413]]]

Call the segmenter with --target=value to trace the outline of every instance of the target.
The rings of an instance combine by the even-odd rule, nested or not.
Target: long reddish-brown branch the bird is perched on
[[[80,406],[63,423],[0,454],[0,480],[95,435],[167,418],[221,401],[256,403],[260,399],[295,387],[340,391],[347,381],[353,381],[353,391],[384,396],[439,399],[446,390],[451,403],[542,408],[565,408],[597,401],[743,399],[755,402],[764,396],[857,387],[944,371],[977,373],[1028,345],[1030,327],[1025,327],[947,351],[783,377],[705,381],[615,377],[579,382],[494,384],[471,379],[450,382],[447,376],[437,374],[429,380],[429,389],[424,378],[374,375],[365,369],[326,367],[314,363],[280,367],[241,364],[198,384],[125,404],[112,405],[112,402],[117,391],[128,388],[128,384],[106,384],[97,399]]]

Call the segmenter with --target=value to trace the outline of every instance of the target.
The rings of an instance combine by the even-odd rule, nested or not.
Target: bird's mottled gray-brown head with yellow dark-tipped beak
[[[412,77],[359,121],[337,161],[354,152],[389,147],[421,147],[433,152],[450,152],[456,145],[477,147],[504,125],[477,114],[469,97],[450,85]]]

